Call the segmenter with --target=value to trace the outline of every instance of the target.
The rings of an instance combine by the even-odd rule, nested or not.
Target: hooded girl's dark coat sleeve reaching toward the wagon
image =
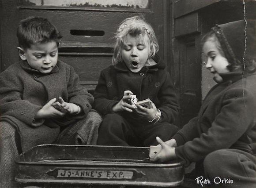
[[[184,159],[185,164],[188,165],[204,159],[215,150],[230,148],[254,126],[256,120],[254,95],[245,88],[227,91],[221,103],[222,108],[209,125],[207,132],[178,146],[175,149],[177,156]]]

